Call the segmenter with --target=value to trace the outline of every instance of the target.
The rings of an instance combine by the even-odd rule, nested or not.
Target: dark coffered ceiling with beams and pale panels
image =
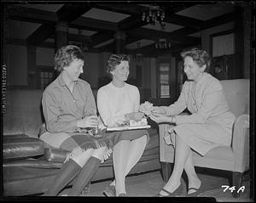
[[[240,6],[236,2],[157,2],[165,9],[165,33],[172,42],[171,48],[159,50],[154,42],[162,35],[160,24],[149,25],[142,20],[143,11],[149,5],[146,2],[93,1],[8,3],[4,21],[5,37],[9,43],[55,48],[55,25],[59,21],[66,21],[69,43],[83,42],[89,52],[114,52],[114,34],[124,31],[126,54],[156,56],[201,44],[201,31],[235,20]]]

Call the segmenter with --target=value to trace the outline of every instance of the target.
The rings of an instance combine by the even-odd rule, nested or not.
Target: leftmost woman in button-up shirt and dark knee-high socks
[[[90,84],[79,79],[84,72],[83,66],[84,54],[79,47],[67,45],[60,48],[55,54],[54,67],[60,75],[43,93],[45,123],[40,139],[49,148],[70,151],[44,194],[46,196],[59,195],[74,178],[73,187],[67,195],[79,196],[97,167],[112,151],[105,140],[79,133],[81,128],[98,126],[96,102]]]

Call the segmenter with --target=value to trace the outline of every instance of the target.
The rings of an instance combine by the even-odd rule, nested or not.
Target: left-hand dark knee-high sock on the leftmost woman
[[[59,194],[61,189],[63,189],[67,183],[73,180],[81,170],[79,164],[77,164],[73,159],[69,159],[65,162],[61,171],[55,176],[53,185],[48,189],[43,196],[56,196]]]

